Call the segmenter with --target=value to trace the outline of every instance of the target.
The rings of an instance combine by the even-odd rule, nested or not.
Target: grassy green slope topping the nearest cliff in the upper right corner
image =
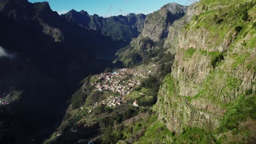
[[[199,7],[207,5],[208,10],[202,11],[199,15],[195,15],[185,28],[190,28],[190,31],[207,29],[207,40],[209,44],[207,49],[219,46],[226,38],[241,37],[242,33],[250,30],[249,33],[255,33],[255,29],[249,27],[255,19],[255,9],[253,5],[255,1],[239,1],[234,0],[228,3],[225,0],[221,1],[200,1]],[[219,7],[222,5],[223,7]],[[233,30],[234,29],[234,30]],[[232,30],[232,31],[230,31]],[[233,35],[234,32],[240,32]],[[229,34],[229,35],[227,35]],[[238,40],[238,39],[233,39]],[[247,46],[247,47],[253,47]]]

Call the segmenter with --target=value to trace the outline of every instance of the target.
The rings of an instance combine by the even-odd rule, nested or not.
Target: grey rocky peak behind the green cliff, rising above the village
[[[181,21],[180,27],[184,26],[189,21],[193,11],[190,7],[179,5],[177,3],[168,3],[158,11],[148,14],[142,33],[138,38],[133,39],[129,46],[119,50],[118,58],[114,63],[123,63],[125,67],[132,67],[141,63],[152,61],[152,58],[164,50],[164,43],[169,34],[170,26],[177,25],[177,21]],[[178,33],[179,29],[171,29]],[[173,37],[175,37],[173,35]],[[132,54],[131,54],[132,53]]]

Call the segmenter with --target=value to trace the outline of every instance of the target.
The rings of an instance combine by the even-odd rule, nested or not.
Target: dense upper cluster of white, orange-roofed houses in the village
[[[90,83],[97,91],[112,91],[121,95],[129,94],[133,87],[140,85],[140,79],[145,78],[145,73],[135,69],[123,68],[113,73],[104,73],[97,76],[98,83]]]

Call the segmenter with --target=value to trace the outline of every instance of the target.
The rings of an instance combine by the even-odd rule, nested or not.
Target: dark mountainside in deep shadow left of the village
[[[125,43],[68,21],[47,2],[1,0],[0,18],[0,95],[15,98],[1,105],[0,142],[38,143],[61,122],[77,83],[110,67]]]

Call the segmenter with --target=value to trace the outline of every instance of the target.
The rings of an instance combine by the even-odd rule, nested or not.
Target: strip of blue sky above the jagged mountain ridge
[[[196,0],[28,0],[31,3],[47,1],[51,9],[59,14],[74,9],[85,10],[90,15],[97,14],[103,17],[126,15],[128,13],[149,14],[160,9],[163,5],[176,2],[189,5]]]

